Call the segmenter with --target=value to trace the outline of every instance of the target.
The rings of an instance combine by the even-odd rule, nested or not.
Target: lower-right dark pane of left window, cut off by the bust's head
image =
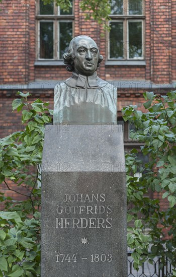
[[[62,58],[63,54],[67,51],[70,40],[72,39],[72,22],[60,22],[60,53],[59,57]]]

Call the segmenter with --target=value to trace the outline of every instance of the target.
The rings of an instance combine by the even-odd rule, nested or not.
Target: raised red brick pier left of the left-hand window
[[[1,3],[1,82],[28,82],[29,9],[25,1]]]

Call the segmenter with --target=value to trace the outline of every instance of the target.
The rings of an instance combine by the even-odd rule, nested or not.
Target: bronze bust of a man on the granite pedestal
[[[117,123],[117,88],[97,76],[103,56],[88,36],[73,38],[63,55],[72,76],[54,89],[53,123]]]

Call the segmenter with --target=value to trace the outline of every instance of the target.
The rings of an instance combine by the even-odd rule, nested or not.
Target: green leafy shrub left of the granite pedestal
[[[24,130],[1,139],[1,183],[24,198],[15,201],[1,193],[0,276],[40,276],[40,167],[44,125],[52,110],[40,99],[28,102],[29,93],[18,92],[13,111],[22,112]],[[6,211],[6,212],[5,212]]]

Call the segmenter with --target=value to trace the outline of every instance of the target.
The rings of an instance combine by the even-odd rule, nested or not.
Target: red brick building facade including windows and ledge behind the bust
[[[72,36],[91,36],[104,56],[98,76],[118,88],[119,120],[123,106],[135,104],[143,109],[144,91],[162,94],[174,88],[175,1],[113,0],[110,24],[115,33],[110,34],[95,21],[85,21],[85,15],[79,9],[79,2],[74,0],[72,11],[65,14],[58,12],[56,7],[52,7],[51,11],[51,8],[46,6],[47,10],[41,6],[39,0],[2,1],[1,137],[21,128],[19,114],[12,113],[12,101],[16,98],[17,91],[29,91],[32,94],[31,100],[41,98],[43,101],[50,101],[50,106],[53,107],[55,84],[71,75],[66,72],[61,55],[58,54],[64,34],[61,26],[69,28],[71,23]],[[53,49],[49,54],[42,48],[41,43],[42,34],[43,39],[49,36],[49,29],[45,30],[46,23],[51,26],[53,34]],[[58,25],[60,23],[63,25]],[[133,39],[134,34],[138,43]],[[60,47],[59,50],[57,47]],[[128,149],[131,146],[127,136],[125,147]]]

